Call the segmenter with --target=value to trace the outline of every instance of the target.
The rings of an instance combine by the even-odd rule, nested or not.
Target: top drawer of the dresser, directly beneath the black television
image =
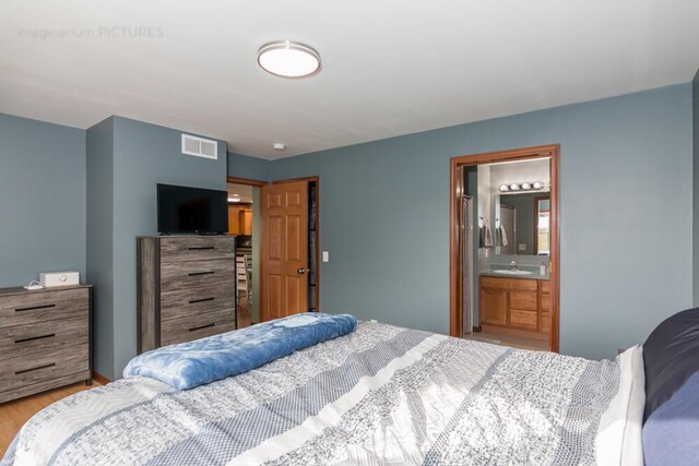
[[[161,238],[161,262],[235,259],[234,237]]]

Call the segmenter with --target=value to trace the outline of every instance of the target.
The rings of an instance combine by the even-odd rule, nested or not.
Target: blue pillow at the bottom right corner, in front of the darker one
[[[643,426],[643,457],[647,466],[699,463],[699,372]]]

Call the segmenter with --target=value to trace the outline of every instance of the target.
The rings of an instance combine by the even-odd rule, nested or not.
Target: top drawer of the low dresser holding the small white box
[[[87,288],[78,288],[3,296],[0,328],[75,316],[87,319],[88,295]]]

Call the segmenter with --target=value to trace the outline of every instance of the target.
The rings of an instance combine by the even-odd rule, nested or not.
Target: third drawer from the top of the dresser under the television
[[[161,295],[161,320],[220,311],[235,306],[235,282],[216,287],[167,291]]]

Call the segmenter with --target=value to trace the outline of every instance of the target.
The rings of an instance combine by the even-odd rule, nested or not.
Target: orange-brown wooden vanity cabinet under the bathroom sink
[[[548,282],[481,277],[481,324],[506,327],[531,336],[548,335]]]

